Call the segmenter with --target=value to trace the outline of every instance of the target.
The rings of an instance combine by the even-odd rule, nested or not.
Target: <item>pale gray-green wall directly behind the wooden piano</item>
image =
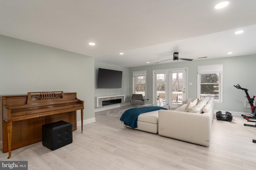
[[[93,57],[0,35],[0,81],[0,95],[77,92],[84,120],[94,118]]]

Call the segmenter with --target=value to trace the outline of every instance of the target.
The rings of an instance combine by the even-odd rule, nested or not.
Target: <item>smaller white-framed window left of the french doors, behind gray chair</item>
[[[146,97],[146,70],[132,72],[133,94],[142,94]]]

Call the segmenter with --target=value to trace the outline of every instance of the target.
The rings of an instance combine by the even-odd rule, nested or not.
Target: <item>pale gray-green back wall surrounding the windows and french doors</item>
[[[147,98],[152,101],[152,72],[153,70],[162,70],[170,68],[188,68],[188,98],[197,97],[197,66],[223,64],[223,103],[215,104],[214,109],[236,112],[251,112],[250,109],[245,108],[244,96],[246,94],[242,90],[234,88],[233,85],[240,84],[247,88],[249,95],[256,96],[256,80],[254,78],[256,55],[239,56],[239,57],[225,57],[220,59],[202,59],[200,61],[184,61],[168,64],[156,64],[150,66],[132,67],[129,69],[129,94],[132,95],[132,71],[147,70],[146,77],[146,93]],[[148,101],[147,101],[148,102]]]

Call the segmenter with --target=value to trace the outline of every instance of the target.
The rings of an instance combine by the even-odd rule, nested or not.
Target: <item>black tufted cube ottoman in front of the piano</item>
[[[55,150],[72,143],[72,123],[57,121],[42,125],[42,144],[50,150]]]

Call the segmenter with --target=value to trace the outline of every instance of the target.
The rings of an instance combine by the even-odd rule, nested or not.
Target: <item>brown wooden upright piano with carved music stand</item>
[[[2,115],[2,152],[42,141],[42,125],[66,121],[77,129],[76,111],[81,110],[83,131],[84,101],[76,93],[28,92],[27,95],[0,96]]]

